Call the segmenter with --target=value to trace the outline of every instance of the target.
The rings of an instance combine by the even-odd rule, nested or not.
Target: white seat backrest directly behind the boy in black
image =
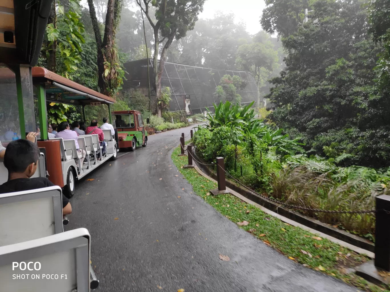
[[[63,227],[59,186],[0,194],[0,246],[60,232]]]

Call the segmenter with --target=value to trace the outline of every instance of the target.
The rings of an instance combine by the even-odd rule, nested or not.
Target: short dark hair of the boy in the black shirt
[[[4,166],[8,172],[24,172],[28,165],[36,163],[39,159],[40,151],[37,145],[19,139],[9,142],[4,153]]]

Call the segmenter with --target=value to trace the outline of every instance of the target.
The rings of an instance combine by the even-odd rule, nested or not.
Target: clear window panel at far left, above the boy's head
[[[11,69],[0,67],[0,141],[12,141],[14,133],[21,138],[16,77]]]

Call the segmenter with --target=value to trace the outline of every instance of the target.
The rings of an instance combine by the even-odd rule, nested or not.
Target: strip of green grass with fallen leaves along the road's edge
[[[355,274],[346,274],[348,267],[369,260],[365,255],[355,253],[326,238],[314,239],[313,237],[318,237],[316,234],[307,232],[300,227],[288,225],[278,218],[264,213],[259,208],[241,201],[234,195],[211,195],[209,190],[216,188],[217,185],[200,175],[195,169],[183,169],[183,165],[188,164],[188,158],[177,156],[179,153],[180,148],[177,147],[172,153],[172,160],[183,177],[191,183],[195,194],[202,197],[230,221],[237,223],[245,220],[249,222],[248,225],[240,228],[250,232],[289,259],[304,264],[306,267],[322,271],[365,291],[390,292],[386,290],[389,287],[371,284]]]

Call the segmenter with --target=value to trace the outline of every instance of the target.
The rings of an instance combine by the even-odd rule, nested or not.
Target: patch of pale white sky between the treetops
[[[259,21],[265,6],[263,0],[206,0],[199,18],[213,18],[218,11],[233,12],[236,21],[244,21],[246,31],[255,34],[261,30]]]

